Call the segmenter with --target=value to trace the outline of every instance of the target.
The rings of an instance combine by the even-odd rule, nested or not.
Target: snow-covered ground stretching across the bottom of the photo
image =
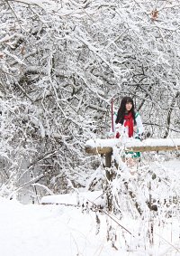
[[[180,168],[180,162],[169,162],[166,168]],[[69,195],[71,196],[71,195]],[[68,196],[67,196],[68,197]],[[59,199],[60,200],[60,199]],[[62,197],[67,201],[67,198]],[[69,199],[69,204],[71,200]],[[117,234],[115,246],[106,240],[106,214],[99,214],[97,232],[95,213],[82,213],[81,207],[65,205],[20,204],[0,198],[0,250],[2,256],[179,256],[178,219],[169,219],[155,229],[154,248],[141,246],[143,237],[137,230],[144,224],[124,218],[117,220],[130,235],[109,218]],[[178,217],[178,216],[177,216]],[[127,251],[129,250],[129,251]]]

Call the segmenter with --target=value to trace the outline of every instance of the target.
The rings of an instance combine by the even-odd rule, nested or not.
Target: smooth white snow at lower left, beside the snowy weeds
[[[1,255],[119,255],[106,242],[104,216],[102,232],[95,235],[93,212],[62,205],[23,205],[3,198],[0,204]]]

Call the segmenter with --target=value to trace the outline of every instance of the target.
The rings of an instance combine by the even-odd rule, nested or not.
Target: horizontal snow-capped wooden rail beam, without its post
[[[121,141],[119,138],[89,139],[85,143],[85,152],[88,154],[109,154],[113,147],[124,147],[125,151],[170,151],[180,150],[180,138],[148,138],[143,141],[129,138]]]

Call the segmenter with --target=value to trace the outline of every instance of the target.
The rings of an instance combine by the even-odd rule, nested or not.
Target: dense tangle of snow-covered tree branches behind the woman
[[[112,99],[179,137],[179,1],[1,0],[0,21],[1,195],[93,189]]]

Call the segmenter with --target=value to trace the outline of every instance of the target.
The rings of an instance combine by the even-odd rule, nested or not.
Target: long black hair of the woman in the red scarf
[[[121,105],[120,105],[120,109],[118,109],[118,115],[117,118],[115,120],[115,123],[118,124],[120,123],[121,125],[123,124],[124,121],[124,116],[126,114],[126,103],[131,103],[132,104],[132,108],[130,109],[130,112],[132,113],[132,118],[134,120],[134,124],[136,124],[136,120],[135,120],[135,109],[134,109],[134,102],[130,97],[124,97],[121,100]]]

